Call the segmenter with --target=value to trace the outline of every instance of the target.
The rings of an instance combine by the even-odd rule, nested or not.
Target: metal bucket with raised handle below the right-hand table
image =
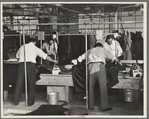
[[[133,102],[134,101],[134,85],[130,82],[127,82],[127,83],[124,83],[123,84],[123,87],[124,88],[124,85],[125,84],[130,84],[131,85],[131,89],[124,89],[123,90],[123,93],[124,93],[124,101],[125,102]]]

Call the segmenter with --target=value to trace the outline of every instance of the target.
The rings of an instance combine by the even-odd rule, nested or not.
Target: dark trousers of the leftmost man
[[[27,62],[26,69],[27,69],[28,106],[30,106],[34,104],[34,98],[35,98],[35,81],[36,81],[35,64],[31,62]],[[21,93],[23,91],[24,83],[25,83],[24,70],[25,70],[24,63],[19,63],[16,87],[15,87],[14,97],[12,99],[12,101],[16,105],[19,103],[19,99],[20,99]]]

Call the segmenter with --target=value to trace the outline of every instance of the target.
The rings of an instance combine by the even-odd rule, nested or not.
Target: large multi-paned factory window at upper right
[[[87,25],[88,33],[94,33],[96,29],[103,30],[104,33],[110,33],[113,29],[117,29],[119,31],[126,30],[126,31],[142,31],[143,30],[143,23],[135,23],[135,21],[143,21],[143,14],[142,11],[131,11],[131,12],[118,12],[117,22],[127,22],[127,21],[134,21],[134,23],[120,23],[120,24],[109,24],[108,22],[115,22],[115,13],[98,13],[96,14],[79,14],[79,23],[99,23],[99,24],[90,24]],[[101,24],[100,24],[101,22]],[[103,24],[107,22],[107,24]],[[85,33],[85,25],[79,25],[79,32]]]

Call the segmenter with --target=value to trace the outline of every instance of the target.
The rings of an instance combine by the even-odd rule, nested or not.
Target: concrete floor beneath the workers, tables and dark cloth
[[[35,96],[35,104],[31,107],[25,106],[25,94],[22,94],[20,103],[17,106],[14,106],[10,98],[12,93],[9,93],[8,100],[3,102],[3,115],[5,117],[15,116],[17,114],[24,114],[36,110],[42,104],[48,104],[46,99],[46,89],[37,90]],[[69,115],[71,116],[143,116],[143,96],[139,99],[139,106],[136,109],[134,102],[124,102],[123,90],[111,89],[109,90],[109,106],[113,108],[111,111],[102,112],[100,110],[99,104],[99,95],[98,91],[95,93],[96,103],[94,110],[88,110],[85,106],[85,100],[78,100],[76,97],[70,100],[69,104],[66,104],[64,101],[59,101],[58,105],[64,105],[64,108],[69,109]]]

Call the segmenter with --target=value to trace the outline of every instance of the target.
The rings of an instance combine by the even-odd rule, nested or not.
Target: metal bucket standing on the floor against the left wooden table
[[[50,105],[56,105],[59,100],[59,93],[58,92],[51,92],[48,93],[48,103]]]

